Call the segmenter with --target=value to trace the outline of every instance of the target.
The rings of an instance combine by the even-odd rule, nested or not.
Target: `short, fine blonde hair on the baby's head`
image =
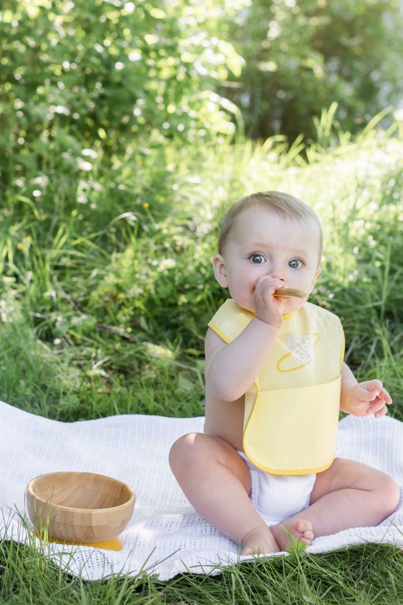
[[[319,229],[319,261],[323,249],[323,229],[322,224],[315,214],[303,201],[298,200],[294,195],[283,193],[282,191],[259,191],[251,195],[245,195],[240,200],[234,202],[225,214],[221,223],[220,234],[218,237],[218,252],[224,254],[225,244],[230,238],[231,231],[236,224],[237,218],[244,210],[259,206],[270,212],[274,212],[283,218],[294,218],[309,223],[314,221]]]

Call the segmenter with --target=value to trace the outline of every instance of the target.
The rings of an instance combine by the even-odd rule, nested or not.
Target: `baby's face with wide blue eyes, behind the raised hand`
[[[251,312],[255,310],[253,293],[260,275],[281,280],[284,287],[303,290],[308,298],[320,273],[319,241],[314,220],[282,218],[259,207],[248,209],[237,217],[224,254],[216,255],[222,260],[218,281],[228,286],[231,298],[240,307]],[[216,268],[218,262],[213,262]],[[289,297],[283,313],[296,311],[306,298]]]

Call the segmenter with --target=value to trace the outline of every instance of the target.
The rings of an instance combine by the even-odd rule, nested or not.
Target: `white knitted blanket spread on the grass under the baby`
[[[203,418],[133,415],[64,423],[0,402],[0,426],[1,537],[34,540],[57,565],[73,575],[81,572],[85,580],[143,570],[167,580],[186,571],[217,571],[245,559],[231,540],[199,517],[169,469],[170,445],[182,434],[202,431]],[[349,416],[340,422],[338,446],[343,457],[379,468],[403,486],[402,422]],[[21,517],[26,515],[28,481],[65,470],[110,475],[135,490],[134,514],[120,535],[120,552],[54,543],[43,547],[27,532]],[[381,525],[317,538],[307,550],[326,552],[366,541],[403,546],[402,495],[396,512]]]

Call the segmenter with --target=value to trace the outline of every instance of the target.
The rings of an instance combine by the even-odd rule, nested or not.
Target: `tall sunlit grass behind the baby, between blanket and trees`
[[[398,414],[401,151],[382,131],[305,148],[309,162],[276,140],[189,148],[185,160],[167,144],[142,167],[140,200],[141,183],[120,188],[99,157],[78,183],[16,182],[1,217],[0,396],[60,420],[202,414],[205,326],[227,296],[210,266],[219,222],[245,191],[269,188],[321,216],[312,300],[343,318],[347,361],[360,378],[382,374]]]

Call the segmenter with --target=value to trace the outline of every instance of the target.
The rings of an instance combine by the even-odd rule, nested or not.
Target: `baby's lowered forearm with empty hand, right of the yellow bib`
[[[353,416],[374,414],[380,418],[387,413],[386,404],[392,398],[380,380],[357,382],[347,364],[341,368],[340,410]]]

